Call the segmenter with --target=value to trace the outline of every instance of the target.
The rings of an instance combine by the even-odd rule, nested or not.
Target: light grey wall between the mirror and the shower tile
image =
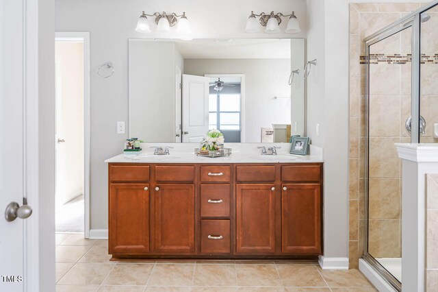
[[[307,60],[318,58],[318,70],[307,80],[307,134],[313,144],[324,147],[324,255],[328,257],[345,257],[348,250],[348,4],[374,2],[307,0]]]

